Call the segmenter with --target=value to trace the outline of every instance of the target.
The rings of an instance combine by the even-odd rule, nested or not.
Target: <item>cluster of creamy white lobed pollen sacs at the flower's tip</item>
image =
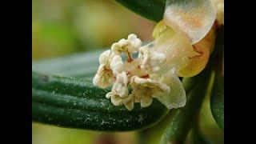
[[[138,58],[133,57],[134,53],[138,53]],[[122,54],[126,54],[126,61]],[[170,86],[157,74],[165,61],[165,54],[142,46],[142,41],[135,34],[130,34],[100,55],[100,66],[93,83],[101,88],[113,85],[106,98],[110,98],[114,106],[125,105],[127,110],[134,108],[134,102],[140,102],[142,107],[150,106],[152,98],[170,93]]]

